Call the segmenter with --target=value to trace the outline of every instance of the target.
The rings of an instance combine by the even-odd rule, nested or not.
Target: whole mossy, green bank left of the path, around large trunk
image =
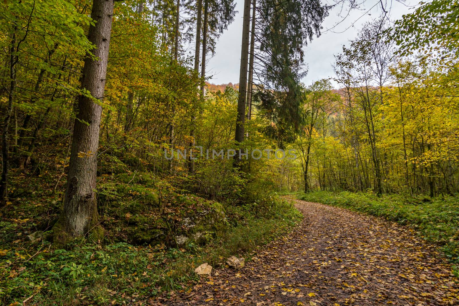
[[[104,153],[97,203],[105,236],[56,249],[50,241],[68,162],[61,150],[39,171],[12,169],[10,201],[0,211],[0,305],[148,305],[159,293],[190,288],[203,262],[250,260],[301,219],[291,203],[250,184],[231,183],[229,200],[208,200],[182,189],[183,178],[154,175],[158,165]],[[32,233],[38,239],[30,241]]]

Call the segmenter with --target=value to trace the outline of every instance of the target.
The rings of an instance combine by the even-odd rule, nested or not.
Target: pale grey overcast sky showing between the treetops
[[[340,53],[342,45],[347,45],[350,39],[355,38],[358,30],[365,22],[380,16],[380,0],[362,1],[364,1],[364,4],[360,6],[360,9],[351,11],[346,18],[344,17],[348,13],[347,8],[343,8],[341,11],[341,7],[336,7],[330,11],[330,15],[325,18],[323,23],[323,34],[319,38],[315,38],[304,49],[308,74],[302,79],[303,83],[309,85],[321,78],[332,77],[333,69],[331,65],[334,62],[333,55]],[[411,7],[418,3],[417,0],[406,0],[404,4],[396,0],[386,1],[387,8],[390,8],[390,19],[392,21],[412,11],[413,8]],[[210,80],[211,83],[239,82],[243,4],[243,0],[237,0],[236,10],[239,13],[236,14],[235,21],[229,26],[228,30],[220,36],[216,47],[216,54],[207,64],[206,75],[213,75],[213,78]],[[342,21],[343,19],[344,21]],[[341,23],[336,25],[338,22]],[[329,30],[327,31],[327,29]]]

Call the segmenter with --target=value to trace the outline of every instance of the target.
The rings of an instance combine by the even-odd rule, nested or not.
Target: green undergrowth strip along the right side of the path
[[[341,206],[414,228],[418,234],[440,248],[459,270],[459,198],[458,197],[411,197],[403,195],[382,195],[315,191],[301,193],[302,200]]]

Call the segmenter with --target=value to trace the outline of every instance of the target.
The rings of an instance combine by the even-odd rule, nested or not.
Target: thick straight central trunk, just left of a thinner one
[[[242,43],[241,43],[241,67],[239,70],[239,96],[237,100],[236,117],[236,144],[244,141],[244,122],[246,116],[246,94],[247,94],[247,61],[249,55],[249,32],[250,32],[250,0],[244,0],[244,17],[242,21]],[[235,155],[239,161],[239,154]]]

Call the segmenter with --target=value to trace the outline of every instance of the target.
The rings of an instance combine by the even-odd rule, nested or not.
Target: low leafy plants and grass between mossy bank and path
[[[263,205],[266,215],[254,216],[255,205]],[[196,282],[194,269],[201,263],[218,267],[228,256],[249,256],[301,219],[290,203],[274,198],[224,210],[225,229],[207,233],[212,237],[204,245],[194,240],[176,248],[80,241],[70,250],[53,250],[46,240],[17,242],[16,249],[3,245],[9,249],[0,254],[1,304],[21,305],[33,295],[37,305],[108,305],[184,290]],[[17,230],[12,223],[1,228],[2,237]]]

